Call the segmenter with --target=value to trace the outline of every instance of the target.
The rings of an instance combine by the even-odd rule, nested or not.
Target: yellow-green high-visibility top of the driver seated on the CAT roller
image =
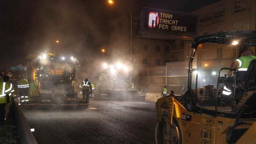
[[[238,71],[247,71],[250,62],[252,60],[256,59],[256,56],[241,56],[238,59],[236,59],[234,62],[237,62]]]

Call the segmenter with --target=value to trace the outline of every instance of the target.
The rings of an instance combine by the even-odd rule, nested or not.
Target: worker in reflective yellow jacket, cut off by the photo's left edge
[[[8,85],[3,80],[0,80],[0,125],[4,124],[6,93],[9,91]]]

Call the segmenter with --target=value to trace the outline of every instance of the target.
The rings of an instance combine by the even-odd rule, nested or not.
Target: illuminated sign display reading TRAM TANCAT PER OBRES
[[[142,30],[197,35],[199,16],[183,12],[143,8]]]

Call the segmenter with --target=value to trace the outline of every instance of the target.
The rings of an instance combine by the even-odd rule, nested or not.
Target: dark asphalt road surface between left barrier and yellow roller
[[[87,109],[23,109],[38,144],[154,144],[155,104],[91,101]]]

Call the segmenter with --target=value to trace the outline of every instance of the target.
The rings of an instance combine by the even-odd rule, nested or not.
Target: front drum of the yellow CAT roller
[[[174,117],[173,125],[159,121],[156,122],[155,140],[156,144],[182,144],[181,130]]]

